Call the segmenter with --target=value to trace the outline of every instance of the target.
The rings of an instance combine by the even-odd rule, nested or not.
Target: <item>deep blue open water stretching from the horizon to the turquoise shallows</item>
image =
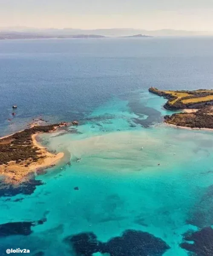
[[[0,135],[19,130],[23,118],[38,115],[82,119],[112,96],[150,86],[211,88],[212,42],[213,38],[1,41]],[[19,107],[13,125],[7,121],[12,105]]]

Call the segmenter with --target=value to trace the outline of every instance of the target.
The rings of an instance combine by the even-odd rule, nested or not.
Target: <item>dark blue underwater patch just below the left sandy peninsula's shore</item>
[[[31,195],[36,186],[43,185],[41,180],[36,180],[34,175],[31,175],[30,179],[22,182],[16,186],[10,183],[5,183],[0,180],[0,197],[1,196],[14,196],[18,194]]]

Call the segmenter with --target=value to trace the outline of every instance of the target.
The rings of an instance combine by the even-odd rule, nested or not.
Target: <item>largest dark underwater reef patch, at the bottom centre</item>
[[[108,253],[110,256],[162,256],[170,247],[160,238],[147,232],[126,230],[122,236],[103,243],[94,233],[80,233],[65,239],[76,256]]]

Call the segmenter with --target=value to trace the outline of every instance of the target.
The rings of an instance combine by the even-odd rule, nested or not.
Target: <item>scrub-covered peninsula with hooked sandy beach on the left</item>
[[[73,122],[74,123],[74,122]],[[53,125],[37,125],[15,134],[0,138],[0,175],[5,183],[18,185],[26,181],[29,173],[47,168],[63,157],[52,154],[36,141],[37,134],[53,132],[67,126],[63,122]]]

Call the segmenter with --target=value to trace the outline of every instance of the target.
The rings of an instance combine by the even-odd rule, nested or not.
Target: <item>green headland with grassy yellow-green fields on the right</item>
[[[168,99],[164,108],[184,113],[174,113],[164,116],[164,121],[170,125],[187,128],[213,129],[213,90],[158,90],[150,87],[151,93]]]

